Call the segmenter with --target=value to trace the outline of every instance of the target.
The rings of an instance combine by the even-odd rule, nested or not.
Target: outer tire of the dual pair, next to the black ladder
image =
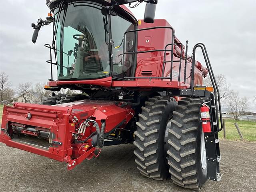
[[[199,190],[207,180],[204,134],[199,126],[199,99],[178,102],[169,130],[168,164],[174,184]]]

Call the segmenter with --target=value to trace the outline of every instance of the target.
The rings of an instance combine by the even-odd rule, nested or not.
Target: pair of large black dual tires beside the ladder
[[[134,133],[135,162],[142,175],[155,180],[170,176],[174,184],[194,190],[206,182],[199,106],[194,98],[184,98],[178,105],[161,97],[149,98]]]

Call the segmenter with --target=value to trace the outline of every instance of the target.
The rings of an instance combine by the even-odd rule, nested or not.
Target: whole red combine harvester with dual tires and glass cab
[[[144,20],[124,6],[132,2],[146,2]],[[0,141],[66,162],[68,170],[98,157],[103,146],[133,143],[137,168],[148,178],[170,177],[196,190],[207,179],[219,181],[222,116],[206,48],[198,43],[188,56],[188,42],[166,20],[154,20],[157,2],[46,0],[50,14],[32,24],[32,42],[53,23],[52,45],[45,45],[52,97],[4,106]],[[197,48],[206,68],[195,60]],[[202,86],[207,74],[212,90]],[[61,88],[83,94],[57,94]]]

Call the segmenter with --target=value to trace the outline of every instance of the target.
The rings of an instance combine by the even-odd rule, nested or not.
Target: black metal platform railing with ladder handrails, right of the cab
[[[164,61],[163,61],[163,67],[162,67],[162,76],[161,77],[152,77],[152,76],[146,76],[146,77],[123,77],[123,80],[130,80],[130,79],[170,79],[170,81],[172,81],[172,68],[173,68],[173,62],[179,62],[179,74],[178,74],[178,81],[180,82],[180,74],[181,74],[181,64],[182,64],[182,59],[185,59],[185,66],[184,66],[184,84],[186,84],[186,69],[187,69],[187,64],[188,64],[188,41],[186,41],[186,52],[185,52],[185,58],[183,58],[183,44],[178,42],[175,42],[175,38],[174,38],[174,34],[175,31],[172,27],[166,27],[166,26],[158,26],[158,27],[151,27],[151,28],[142,28],[142,29],[136,29],[136,30],[130,30],[130,31],[126,31],[124,33],[124,42],[126,39],[126,34],[127,33],[131,33],[131,32],[139,32],[139,31],[145,31],[145,30],[155,30],[155,29],[170,29],[172,31],[172,40],[170,44],[166,44],[164,49],[158,49],[158,50],[147,50],[147,51],[125,51],[124,48],[124,52],[123,52],[123,60],[122,60],[122,66],[123,66],[123,74],[124,74],[124,60],[125,60],[125,54],[141,54],[141,53],[149,53],[149,52],[164,52]],[[174,56],[174,46],[180,44],[181,45],[181,50],[180,50],[180,60],[173,60],[173,56]],[[172,46],[171,49],[167,49],[168,46]],[[204,44],[202,43],[198,43],[194,46],[193,48],[193,55],[192,55],[192,66],[191,66],[191,76],[190,76],[190,93],[193,94],[194,92],[194,72],[195,72],[195,62],[196,62],[196,49],[197,48],[201,48],[202,50],[202,54],[204,56],[204,60],[207,66],[207,70],[209,72],[209,76],[210,76],[210,80],[212,82],[212,86],[214,88],[214,101],[215,101],[215,114],[216,114],[216,120],[217,122],[219,122],[219,114],[218,114],[218,110],[220,111],[220,125],[217,123],[217,130],[216,132],[214,132],[214,134],[216,134],[217,132],[221,131],[223,128],[223,122],[222,122],[222,114],[221,114],[221,104],[220,104],[220,91],[218,89],[218,85],[216,82],[216,79],[214,77],[214,73],[212,71],[212,66],[210,63],[210,59],[206,50],[206,47]],[[171,60],[170,61],[166,61],[166,52],[171,52]],[[164,76],[164,70],[165,70],[165,65],[166,63],[171,63],[170,66],[170,77],[165,77]]]

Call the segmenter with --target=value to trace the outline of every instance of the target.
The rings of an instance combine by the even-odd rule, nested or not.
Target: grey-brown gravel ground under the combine
[[[221,182],[208,180],[201,192],[254,192],[256,142],[221,140]],[[0,143],[0,191],[22,192],[190,192],[170,181],[141,176],[132,144],[104,147],[98,158],[85,160],[72,171],[66,164]]]

